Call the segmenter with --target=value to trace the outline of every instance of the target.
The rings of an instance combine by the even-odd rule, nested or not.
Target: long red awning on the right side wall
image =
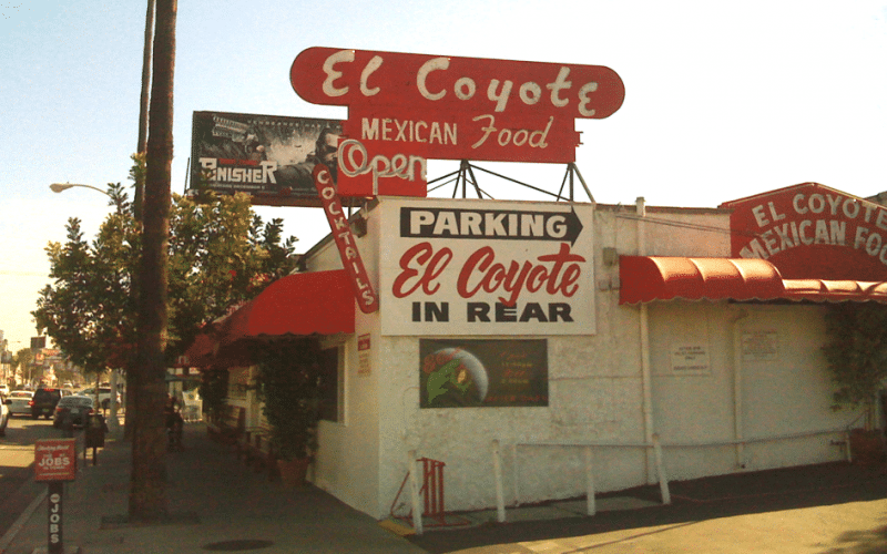
[[[810,300],[887,302],[887,283],[783,279],[756,258],[620,256],[619,304],[653,300]]]

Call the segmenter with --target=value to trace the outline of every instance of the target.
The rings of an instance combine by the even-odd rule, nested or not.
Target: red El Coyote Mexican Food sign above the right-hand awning
[[[734,257],[783,278],[887,280],[887,208],[818,183],[727,202]]]

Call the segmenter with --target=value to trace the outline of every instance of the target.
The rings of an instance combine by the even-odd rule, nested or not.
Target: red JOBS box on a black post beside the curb
[[[64,482],[77,478],[77,440],[50,439],[34,443],[34,481],[49,486],[47,546],[50,554],[64,552]]]

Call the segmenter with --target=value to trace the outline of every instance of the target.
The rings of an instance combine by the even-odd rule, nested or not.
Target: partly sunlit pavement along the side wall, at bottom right
[[[885,468],[846,462],[721,475],[585,501],[507,510],[508,523],[426,532],[410,541],[430,553],[747,554],[887,553]],[[626,510],[625,507],[632,509]]]

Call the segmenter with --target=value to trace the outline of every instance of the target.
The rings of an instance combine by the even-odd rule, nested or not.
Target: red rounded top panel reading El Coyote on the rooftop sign
[[[625,99],[622,80],[603,65],[320,47],[299,53],[289,76],[299,96],[326,105],[603,119]]]

